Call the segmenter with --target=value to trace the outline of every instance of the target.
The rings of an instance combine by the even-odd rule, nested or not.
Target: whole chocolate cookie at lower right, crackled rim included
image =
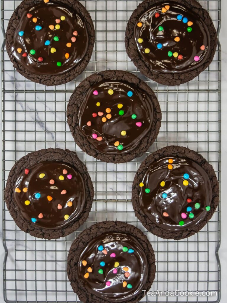
[[[212,166],[197,152],[168,146],[143,161],[133,181],[133,208],[144,227],[164,239],[198,232],[219,202]]]

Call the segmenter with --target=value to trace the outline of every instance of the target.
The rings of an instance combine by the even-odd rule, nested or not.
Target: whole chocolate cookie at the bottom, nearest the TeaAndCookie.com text
[[[155,278],[153,248],[133,225],[106,221],[85,229],[68,254],[67,273],[84,303],[136,303]]]

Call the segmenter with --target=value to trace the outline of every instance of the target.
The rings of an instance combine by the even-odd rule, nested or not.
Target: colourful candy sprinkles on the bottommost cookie
[[[129,254],[133,254],[133,252],[134,252],[134,250],[133,250],[132,248],[128,248],[128,247],[126,247],[126,246],[123,246],[123,247],[122,247],[122,251],[123,251],[123,252],[128,252]],[[104,255],[107,255],[107,254],[108,254],[107,249],[104,248],[103,245],[98,246],[98,252],[102,252]],[[110,258],[116,258],[116,254],[115,254],[114,252],[110,253]],[[91,272],[93,271],[93,269],[92,269],[92,267],[91,267],[93,264],[92,264],[92,265],[89,265],[88,262],[87,262],[86,260],[83,260],[83,261],[82,261],[82,265],[83,265],[84,267],[86,267],[86,271],[87,271],[87,272],[85,273],[84,278],[87,279],[87,278],[89,277],[89,273],[91,273]],[[99,273],[100,275],[103,275],[103,273],[104,273],[103,268],[106,266],[106,263],[105,263],[104,261],[101,261],[101,262],[99,263],[99,265],[100,265],[100,268],[99,268],[99,270],[98,270],[98,273]],[[119,276],[119,274],[121,274],[121,275],[123,275],[124,278],[126,278],[126,279],[130,277],[129,268],[128,268],[127,266],[124,266],[123,264],[120,265],[120,263],[119,263],[118,261],[115,261],[115,262],[114,262],[114,267],[112,268],[112,271],[113,271],[113,274],[115,274],[115,275],[118,274],[118,276]],[[124,279],[124,278],[123,278],[123,279]],[[112,284],[112,281],[109,281],[109,280],[108,280],[108,281],[105,282],[105,284],[106,284],[107,287],[109,287],[109,286]],[[123,286],[123,288],[125,288],[126,286],[127,286],[127,288],[132,288],[132,287],[133,287],[133,286],[132,286],[130,283],[128,283],[127,281],[123,281],[122,286]]]

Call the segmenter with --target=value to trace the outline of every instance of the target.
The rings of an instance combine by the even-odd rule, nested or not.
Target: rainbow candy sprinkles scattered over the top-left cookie
[[[48,3],[49,0],[44,0],[44,2],[45,2],[45,3]],[[31,13],[28,13],[28,14],[27,14],[27,18],[30,19],[31,17],[33,17],[33,15],[32,15]],[[33,17],[31,20],[32,20],[32,22],[34,22],[34,23],[37,23],[37,21],[38,21],[38,19],[37,19],[36,17]],[[51,31],[60,29],[60,27],[61,27],[60,22],[61,22],[61,21],[63,22],[64,20],[65,20],[65,16],[61,16],[60,19],[55,19],[56,24],[55,24],[55,25],[53,25],[53,24],[50,24],[50,25],[49,25],[49,28],[51,29]],[[39,19],[39,21],[40,21],[40,19]],[[42,26],[41,26],[41,25],[34,25],[34,26],[35,26],[35,30],[36,30],[36,31],[39,32],[39,31],[42,30]],[[18,35],[19,35],[20,37],[23,37],[24,32],[23,32],[23,31],[19,31],[19,32],[18,32]],[[77,36],[77,35],[78,35],[77,31],[74,31],[74,32],[73,32],[73,36],[71,37],[71,42],[76,42],[76,36]],[[54,40],[54,42],[58,42],[60,38],[61,38],[60,36],[54,35],[53,40]],[[46,40],[46,41],[44,42],[44,45],[45,45],[45,46],[49,46],[49,47],[50,47],[50,52],[51,52],[51,54],[57,52],[57,50],[58,50],[58,45],[57,45],[57,44],[55,45],[54,42],[52,42],[53,45],[51,45],[51,41],[50,41],[50,40]],[[71,42],[68,42],[68,43],[66,44],[66,46],[67,46],[68,48],[71,48],[71,45],[72,45]],[[55,48],[54,46],[55,46],[56,48]],[[59,49],[59,50],[61,50],[61,49]],[[22,52],[22,48],[17,48],[17,52],[20,54],[20,53]],[[29,53],[30,53],[30,55],[35,55],[35,54],[36,54],[36,50],[35,50],[35,49],[30,49],[30,52],[29,52]],[[23,52],[23,53],[22,53],[22,57],[27,57],[27,56],[28,56],[28,53],[27,53],[27,52]],[[66,60],[67,60],[69,57],[70,57],[70,54],[69,54],[69,53],[65,53],[65,58],[66,58]],[[35,59],[35,58],[34,58],[34,59]],[[35,59],[35,60],[36,60],[36,59]],[[43,58],[43,57],[38,57],[38,62],[43,62],[43,61],[45,61],[45,58]],[[58,61],[56,64],[57,64],[57,66],[61,66],[61,65],[62,65],[62,62]]]

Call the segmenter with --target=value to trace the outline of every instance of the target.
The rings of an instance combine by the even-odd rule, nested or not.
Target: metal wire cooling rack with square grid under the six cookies
[[[199,1],[208,9],[218,33],[221,1]],[[20,1],[2,0],[2,29]],[[9,61],[2,46],[3,189],[15,161],[28,152],[58,147],[76,150],[87,165],[95,196],[92,211],[79,231],[66,238],[42,240],[21,231],[12,220],[3,193],[3,265],[6,302],[79,302],[67,280],[67,253],[84,228],[103,220],[127,221],[140,228],[156,255],[156,278],[151,293],[141,302],[219,302],[220,206],[196,235],[164,240],[147,232],[134,215],[131,189],[135,172],[150,152],[167,145],[199,151],[213,165],[220,181],[221,52],[199,77],[184,85],[168,87],[150,81],[127,58],[124,35],[127,20],[139,1],[81,2],[93,19],[96,41],[92,58],[76,82],[46,87],[26,80]],[[162,110],[162,126],[156,142],[141,158],[124,164],[97,161],[86,155],[66,123],[66,107],[74,88],[87,76],[106,69],[133,72],[154,90]],[[199,295],[168,295],[162,291],[199,291]],[[203,291],[205,293],[203,293]],[[208,291],[208,292],[207,292]],[[91,302],[92,303],[92,302]]]

